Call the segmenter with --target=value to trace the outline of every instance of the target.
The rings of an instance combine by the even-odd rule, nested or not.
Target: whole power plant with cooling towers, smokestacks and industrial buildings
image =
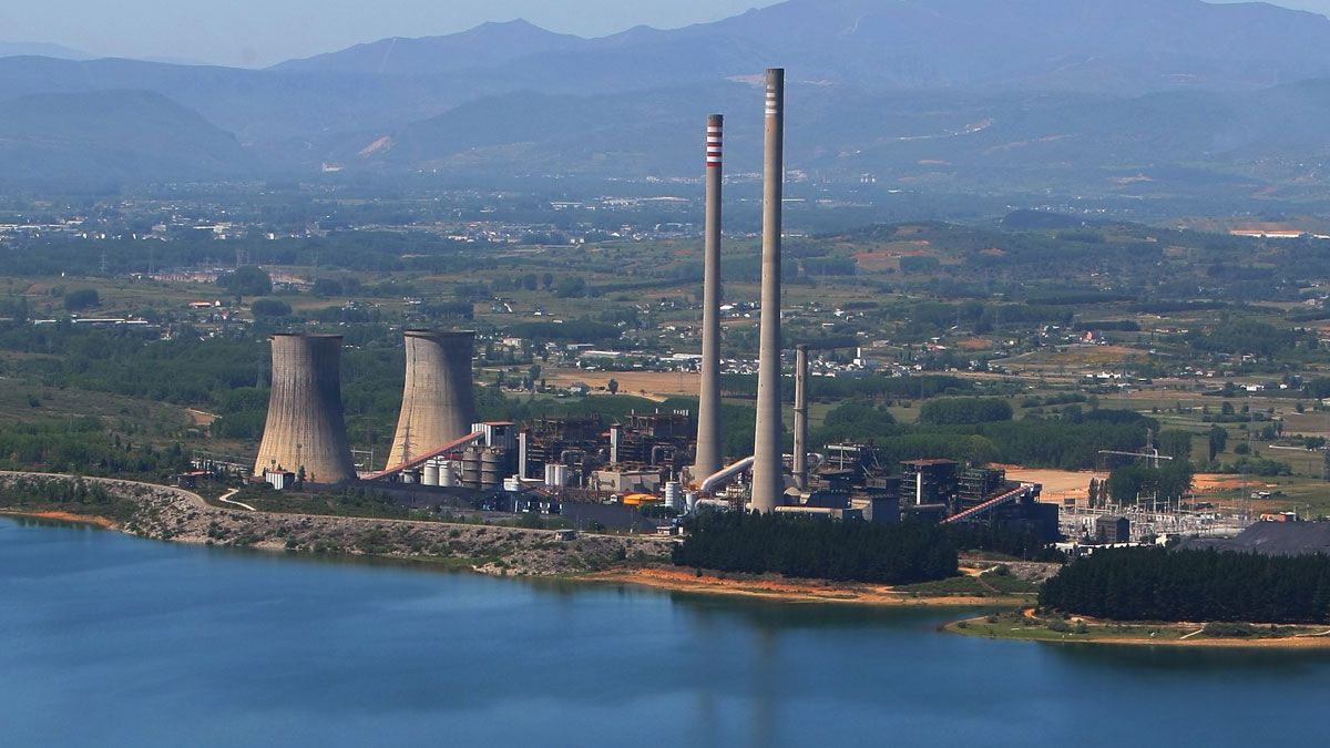
[[[766,71],[762,176],[762,282],[751,457],[725,465],[721,434],[721,238],[724,124],[706,118],[704,291],[696,425],[686,410],[539,417],[527,425],[476,422],[473,331],[408,329],[402,410],[384,470],[356,475],[343,425],[340,337],[273,335],[273,393],[255,474],[285,487],[359,478],[416,508],[540,511],[613,516],[653,530],[640,514],[664,500],[676,514],[763,514],[896,522],[1019,522],[1056,534],[1056,507],[1040,487],[952,461],[910,461],[892,475],[871,443],[809,445],[810,350],[794,350],[794,449],[782,451],[781,240],[785,178],[785,71]],[[696,429],[696,431],[694,431]],[[274,479],[274,476],[277,479]],[[745,476],[747,479],[745,479]],[[1048,510],[1052,508],[1049,519]],[[660,516],[652,512],[650,516]],[[665,512],[665,516],[673,516]],[[626,519],[625,519],[626,518]],[[645,526],[642,523],[646,523]],[[581,526],[581,524],[579,524]]]

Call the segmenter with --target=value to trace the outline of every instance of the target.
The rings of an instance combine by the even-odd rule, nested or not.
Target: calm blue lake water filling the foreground
[[[1325,745],[1330,656],[0,519],[0,745]]]

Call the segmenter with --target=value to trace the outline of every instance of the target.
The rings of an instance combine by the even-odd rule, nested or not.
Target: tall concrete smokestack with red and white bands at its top
[[[698,483],[721,468],[721,181],[725,117],[706,118],[706,238],[702,281],[702,382],[697,398]]]

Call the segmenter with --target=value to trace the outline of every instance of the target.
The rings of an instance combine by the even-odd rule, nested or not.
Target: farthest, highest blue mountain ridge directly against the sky
[[[712,24],[602,39],[529,24],[384,40],[278,69],[438,75],[503,67],[541,91],[753,75],[870,88],[999,87],[1142,93],[1250,88],[1330,75],[1330,20],[1201,0],[787,0]],[[660,65],[658,60],[670,64]],[[652,76],[652,77],[646,77]]]

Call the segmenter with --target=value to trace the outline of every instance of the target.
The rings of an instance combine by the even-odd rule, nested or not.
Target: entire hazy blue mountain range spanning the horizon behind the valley
[[[789,0],[600,39],[484,24],[263,71],[57,57],[0,59],[0,105],[43,112],[0,128],[7,166],[25,165],[9,181],[65,173],[43,160],[97,149],[120,154],[97,161],[108,180],[327,162],[696,176],[709,110],[729,113],[732,169],[751,170],[757,85],[783,65],[789,166],[826,178],[1089,194],[1330,188],[1330,20],[1262,3]],[[43,128],[64,137],[43,141]],[[160,153],[132,137],[165,130],[173,145]]]

